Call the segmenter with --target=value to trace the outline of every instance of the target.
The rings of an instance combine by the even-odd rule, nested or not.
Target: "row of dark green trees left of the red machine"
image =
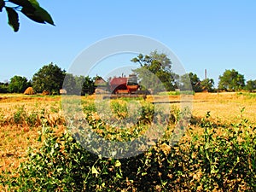
[[[72,86],[68,86],[73,89],[67,90],[69,93],[78,93],[79,91],[81,95],[92,94],[96,88],[94,85],[95,79],[91,79],[89,76],[73,76],[66,73],[61,67],[49,63],[49,65],[40,68],[30,81],[26,77],[15,75],[9,83],[0,83],[0,92],[23,93],[28,87],[32,86],[36,93],[47,92],[56,95],[60,93],[65,77],[72,84]]]

